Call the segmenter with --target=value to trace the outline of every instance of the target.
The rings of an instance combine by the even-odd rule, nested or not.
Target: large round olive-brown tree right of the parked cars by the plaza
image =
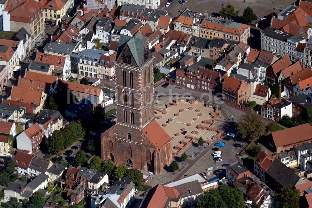
[[[250,111],[238,120],[238,130],[243,139],[252,141],[265,132],[265,126],[261,115]]]

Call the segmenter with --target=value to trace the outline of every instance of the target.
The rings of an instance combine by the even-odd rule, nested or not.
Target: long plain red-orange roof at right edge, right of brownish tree
[[[312,126],[309,123],[271,132],[276,147],[305,141],[312,138]]]

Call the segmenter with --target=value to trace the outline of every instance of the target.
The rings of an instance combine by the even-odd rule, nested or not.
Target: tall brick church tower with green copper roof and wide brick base
[[[159,174],[172,139],[154,119],[153,57],[140,33],[120,35],[115,66],[117,121],[102,134],[101,157]]]

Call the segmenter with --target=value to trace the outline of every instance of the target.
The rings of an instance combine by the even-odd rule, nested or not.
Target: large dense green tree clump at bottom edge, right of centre
[[[243,192],[237,187],[221,185],[217,189],[205,191],[202,200],[197,200],[192,208],[245,208]]]

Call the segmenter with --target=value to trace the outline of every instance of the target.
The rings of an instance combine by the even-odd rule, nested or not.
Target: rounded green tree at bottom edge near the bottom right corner
[[[275,194],[276,208],[298,208],[300,191],[292,189],[291,186],[284,186],[280,192]]]

